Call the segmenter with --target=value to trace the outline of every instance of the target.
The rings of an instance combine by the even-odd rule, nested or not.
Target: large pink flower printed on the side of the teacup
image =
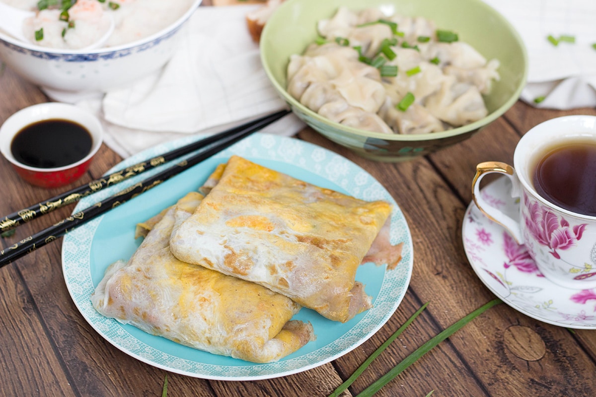
[[[527,195],[524,195],[524,204],[529,215],[525,222],[527,230],[538,243],[551,249],[548,252],[553,257],[560,259],[557,249],[560,251],[569,249],[582,238],[586,228],[585,223],[570,227],[565,218],[561,217],[559,221],[557,215],[539,205],[538,202],[530,202]]]

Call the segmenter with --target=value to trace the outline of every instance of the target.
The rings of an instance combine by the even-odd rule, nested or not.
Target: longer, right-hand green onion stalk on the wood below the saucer
[[[439,335],[434,336],[428,342],[424,343],[424,345],[420,346],[420,348],[416,349],[412,354],[410,354],[408,357],[402,360],[402,362],[393,367],[392,370],[381,376],[372,385],[362,390],[362,392],[359,393],[356,397],[373,396],[374,393],[378,392],[378,390],[381,390],[383,386],[387,385],[387,383],[395,379],[395,377],[401,374],[406,368],[414,364],[414,362],[416,362],[418,358],[423,357],[423,355],[427,354],[431,349],[434,348],[434,346],[439,345],[439,343],[443,342],[443,340],[447,339],[449,336],[453,335],[455,332],[460,330],[461,327],[465,326],[465,324],[474,320],[474,318],[478,317],[478,315],[482,314],[483,312],[489,310],[493,306],[496,306],[500,303],[502,303],[501,299],[493,299],[492,301],[488,302],[480,308],[477,308],[465,317],[462,317],[456,323],[452,324],[450,327],[440,332]]]

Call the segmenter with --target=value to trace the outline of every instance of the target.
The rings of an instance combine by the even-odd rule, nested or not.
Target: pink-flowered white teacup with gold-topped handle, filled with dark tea
[[[591,165],[582,164],[585,158],[592,159]],[[572,289],[596,287],[596,116],[538,124],[520,139],[513,164],[477,165],[472,182],[476,206],[526,246],[547,279]],[[519,218],[480,195],[480,180],[492,173],[511,180],[511,195],[520,200]],[[592,193],[571,194],[576,183]]]

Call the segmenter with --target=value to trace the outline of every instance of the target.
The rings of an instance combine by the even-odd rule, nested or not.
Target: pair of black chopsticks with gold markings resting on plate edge
[[[199,162],[206,160],[218,152],[221,152],[225,148],[228,148],[228,146],[233,145],[244,137],[247,137],[252,133],[262,129],[263,127],[268,126],[274,121],[279,120],[288,113],[290,113],[290,111],[282,110],[257,120],[250,121],[249,123],[243,124],[242,126],[234,127],[224,132],[206,137],[204,139],[190,143],[189,145],[182,146],[181,148],[151,158],[150,160],[139,162],[138,164],[132,165],[131,167],[127,167],[123,170],[111,173],[101,179],[89,182],[87,185],[76,187],[75,189],[69,190],[68,192],[65,192],[61,195],[52,197],[43,203],[35,204],[29,208],[25,208],[24,210],[7,215],[3,220],[0,221],[0,232],[14,229],[22,223],[28,222],[41,215],[48,214],[51,211],[64,207],[64,205],[79,201],[79,199],[88,196],[91,193],[98,192],[105,187],[122,182],[123,180],[144,173],[145,171],[148,171],[154,167],[165,164],[168,161],[175,160],[179,157],[202,149],[200,152],[197,152],[197,154],[191,155],[185,160],[178,162],[178,164],[172,165],[172,167],[166,168],[154,176],[142,180],[142,182],[136,183],[135,185],[128,187],[127,189],[124,189],[113,196],[98,202],[97,204],[91,205],[91,207],[85,208],[76,214],[72,214],[70,217],[52,225],[51,227],[48,227],[47,229],[42,230],[39,233],[36,233],[35,235],[26,237],[20,242],[2,249],[0,251],[0,267],[17,260],[26,254],[29,254],[29,252],[35,251],[35,249],[38,249],[39,247],[54,241],[58,237],[63,236],[64,234],[72,231],[84,223],[87,223],[98,215],[110,211],[112,208],[123,204],[124,202],[134,198],[148,189],[151,189],[151,187],[157,186],[165,180],[178,175],[182,171],[193,167]]]

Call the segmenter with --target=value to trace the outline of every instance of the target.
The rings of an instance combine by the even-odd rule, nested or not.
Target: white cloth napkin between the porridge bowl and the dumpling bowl
[[[208,135],[285,107],[246,27],[259,5],[199,7],[162,70],[103,99],[78,104],[103,121],[105,143],[122,157],[188,134]],[[293,135],[304,124],[288,115],[263,132]]]

